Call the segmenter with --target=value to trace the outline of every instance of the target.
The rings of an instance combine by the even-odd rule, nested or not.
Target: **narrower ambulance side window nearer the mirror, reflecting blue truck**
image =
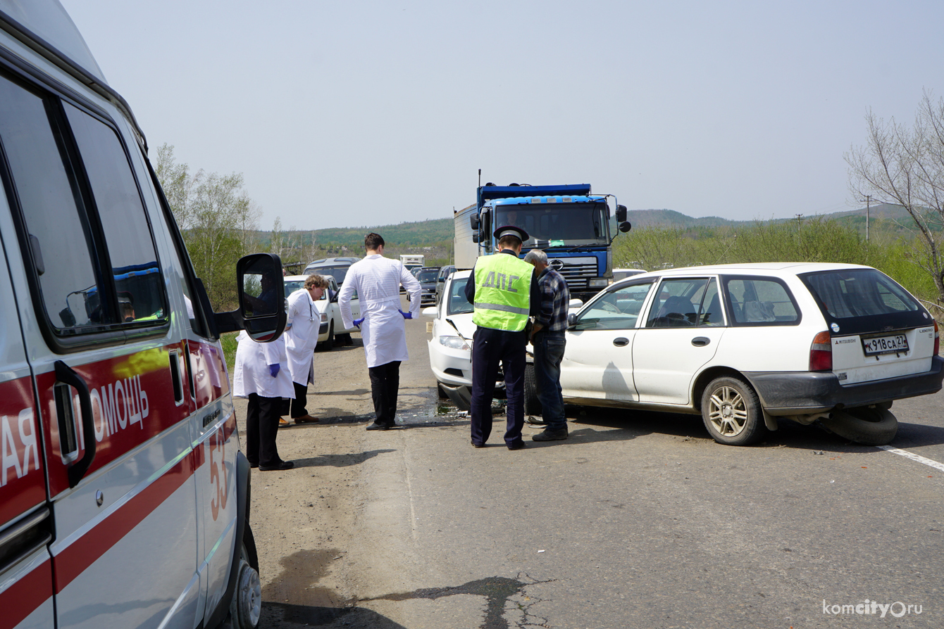
[[[64,107],[108,244],[119,321],[162,320],[158,255],[125,149],[110,126],[72,105]]]

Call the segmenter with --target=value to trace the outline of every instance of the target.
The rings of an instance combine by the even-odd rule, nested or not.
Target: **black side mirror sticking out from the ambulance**
[[[239,307],[214,313],[217,332],[245,330],[253,340],[278,339],[285,329],[282,262],[274,254],[252,254],[236,263]]]

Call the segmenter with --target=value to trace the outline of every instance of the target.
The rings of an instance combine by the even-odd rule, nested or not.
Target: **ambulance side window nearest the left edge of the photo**
[[[55,103],[0,75],[0,145],[12,177],[4,183],[8,197],[19,201],[49,322],[70,334],[111,322],[99,305],[100,278],[76,179],[47,108]]]

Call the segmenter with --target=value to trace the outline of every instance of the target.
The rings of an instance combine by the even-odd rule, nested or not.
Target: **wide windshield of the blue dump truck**
[[[605,209],[605,203],[499,205],[495,224],[522,227],[531,240],[551,240],[551,246],[606,244],[610,229]]]

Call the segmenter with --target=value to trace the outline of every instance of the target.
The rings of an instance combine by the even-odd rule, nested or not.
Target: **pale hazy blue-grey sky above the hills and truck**
[[[60,0],[151,147],[260,227],[448,218],[589,183],[732,220],[861,207],[869,110],[944,96],[944,3]]]

